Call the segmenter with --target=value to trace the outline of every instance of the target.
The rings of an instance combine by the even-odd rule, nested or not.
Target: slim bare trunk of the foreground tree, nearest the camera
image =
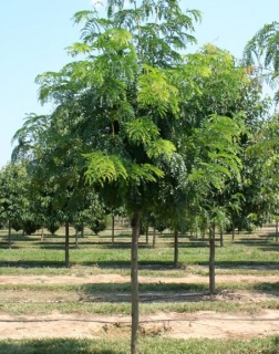
[[[141,232],[141,214],[135,211],[132,218],[132,244],[131,244],[131,289],[132,289],[132,332],[131,354],[137,354],[138,334],[138,277],[137,277],[137,249]]]

